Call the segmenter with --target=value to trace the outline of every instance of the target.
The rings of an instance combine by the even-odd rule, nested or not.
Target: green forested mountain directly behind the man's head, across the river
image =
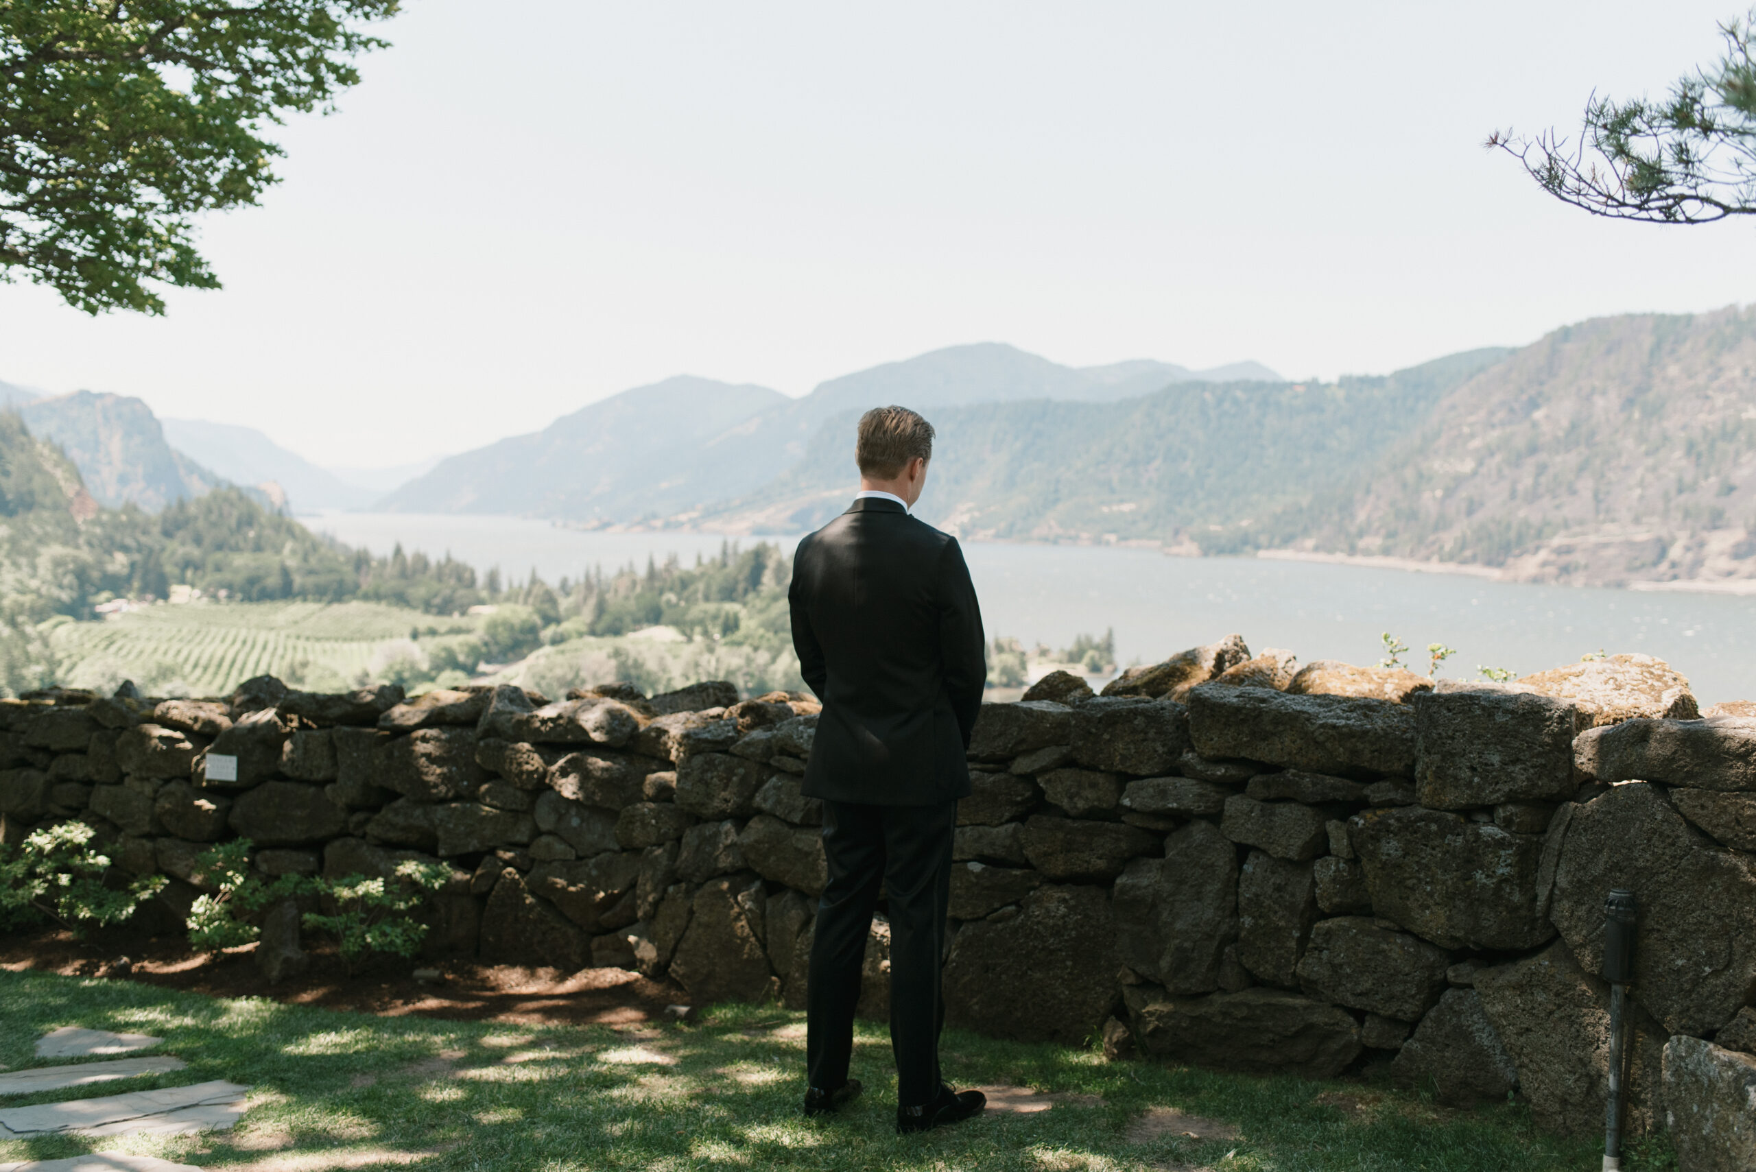
[[[1173,382],[1112,402],[934,409],[938,439],[917,514],[976,539],[1217,544],[1227,528],[1340,491],[1452,388],[1510,353],[1470,351],[1328,386]],[[841,512],[860,409],[827,419],[790,470],[709,509],[702,525],[794,533]]]

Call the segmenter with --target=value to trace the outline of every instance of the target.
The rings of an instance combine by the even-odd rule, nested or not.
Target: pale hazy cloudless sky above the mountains
[[[390,465],[680,372],[797,395],[1003,340],[1329,377],[1747,302],[1756,223],[1600,221],[1480,146],[1663,91],[1740,2],[411,0],[207,225],[223,291],[0,286],[0,379]]]

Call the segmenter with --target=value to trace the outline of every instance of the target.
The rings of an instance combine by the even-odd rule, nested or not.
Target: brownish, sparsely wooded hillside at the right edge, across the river
[[[1556,330],[1447,395],[1308,549],[1619,584],[1756,572],[1756,307]]]

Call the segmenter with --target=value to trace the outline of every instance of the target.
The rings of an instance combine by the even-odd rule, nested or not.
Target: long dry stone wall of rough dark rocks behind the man
[[[16,842],[84,819],[198,895],[263,874],[451,863],[432,954],[625,967],[699,1000],[802,1005],[817,704],[729,684],[550,702],[518,688],[0,702]],[[1645,656],[1514,684],[1250,656],[1231,637],[983,707],[959,807],[946,1016],[999,1037],[1133,1033],[1168,1060],[1335,1076],[1373,1056],[1447,1104],[1521,1091],[1591,1133],[1607,1084],[1603,902],[1642,907],[1630,1121],[1684,1172],[1751,1167],[1756,718]],[[297,954],[265,925],[263,958]],[[860,1012],[887,1014],[889,926]],[[1113,1019],[1113,1021],[1112,1021]],[[1740,1098],[1742,1097],[1742,1098]]]

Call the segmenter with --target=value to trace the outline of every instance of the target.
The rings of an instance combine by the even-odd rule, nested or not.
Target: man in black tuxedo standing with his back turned
[[[897,1130],[957,1123],[987,1104],[939,1077],[945,909],[964,753],[987,682],[982,612],[957,539],[910,516],[932,425],[906,407],[860,418],[860,493],[799,542],[792,646],[824,702],[804,770],[824,800],[829,886],[806,993],[806,1114],[860,1091],[848,1077],[860,961],[878,891],[890,914],[890,1047]]]

